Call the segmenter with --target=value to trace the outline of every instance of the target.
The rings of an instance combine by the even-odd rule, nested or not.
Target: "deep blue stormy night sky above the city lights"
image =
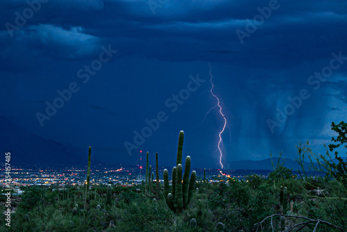
[[[346,1],[3,0],[0,22],[1,153],[172,166],[183,130],[193,167],[221,167],[210,67],[225,168],[324,152],[346,121]]]

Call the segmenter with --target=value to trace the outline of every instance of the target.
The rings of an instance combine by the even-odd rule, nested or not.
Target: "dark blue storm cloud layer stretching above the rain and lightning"
[[[278,1],[279,8],[272,10],[269,19],[264,19],[264,23],[250,38],[244,38],[245,44],[242,46],[235,30],[245,31],[246,19],[259,15],[257,8],[268,7],[269,1],[221,1],[206,3],[205,6],[175,1],[158,8],[155,15],[151,14],[147,3],[51,0],[42,3],[42,8],[32,19],[28,19],[26,26],[21,28],[24,32],[17,35],[17,40],[33,40],[39,46],[40,43],[51,44],[59,52],[44,49],[48,50],[46,53],[51,52],[47,56],[67,58],[86,56],[88,51],[81,51],[79,47],[92,49],[90,47],[95,45],[95,40],[100,39],[119,44],[128,55],[141,53],[160,60],[208,61],[211,58],[204,52],[206,49],[232,49],[237,53],[228,57],[212,56],[212,59],[234,63],[249,60],[253,65],[262,67],[270,62],[278,67],[293,67],[303,60],[323,58],[334,47],[341,48],[343,38],[347,36],[346,30],[332,29],[346,25],[346,10],[341,6],[346,3],[341,1],[313,5],[311,1]],[[14,12],[20,13],[24,6],[19,1],[5,3],[3,10],[5,12],[7,8],[7,17],[3,17],[1,22],[11,18],[10,12],[13,21]],[[63,44],[47,40],[45,37],[50,33],[65,33],[65,38],[56,38],[62,39]],[[3,38],[4,33],[1,35]],[[323,35],[325,37],[322,39]],[[64,40],[70,41],[69,44]],[[12,51],[11,47],[8,49]],[[269,51],[272,51],[271,54]],[[74,54],[67,55],[71,53]]]

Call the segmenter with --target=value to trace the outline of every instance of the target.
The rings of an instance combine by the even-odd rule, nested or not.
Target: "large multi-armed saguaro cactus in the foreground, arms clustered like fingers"
[[[183,173],[182,167],[182,151],[183,151],[183,138],[184,132],[180,131],[178,136],[178,149],[177,149],[177,167],[172,169],[172,189],[169,186],[169,172],[164,169],[164,195],[167,201],[167,206],[174,210],[176,213],[181,213],[183,209],[189,206],[194,192],[194,185],[196,181],[196,172],[192,172],[189,179],[191,158],[185,158],[185,172]],[[182,176],[183,174],[183,176]]]

